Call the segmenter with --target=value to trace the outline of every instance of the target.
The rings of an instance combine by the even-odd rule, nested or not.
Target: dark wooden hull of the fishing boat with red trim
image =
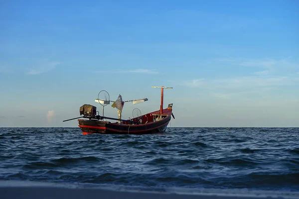
[[[170,115],[165,118],[145,124],[119,124],[108,121],[78,119],[79,127],[83,135],[98,134],[151,134],[164,132],[171,119]]]

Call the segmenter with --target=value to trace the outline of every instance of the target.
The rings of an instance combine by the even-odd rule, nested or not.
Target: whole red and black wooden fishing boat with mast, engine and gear
[[[72,118],[77,119],[79,127],[82,130],[83,135],[98,133],[98,134],[150,134],[164,132],[167,128],[168,123],[171,120],[171,116],[174,119],[172,113],[172,103],[169,103],[167,108],[163,108],[163,94],[164,89],[172,89],[171,87],[152,87],[161,89],[161,103],[160,109],[149,112],[147,114],[141,114],[138,108],[133,110],[133,118],[122,119],[122,109],[125,102],[132,101],[133,104],[147,101],[148,99],[140,100],[128,100],[123,101],[122,96],[119,95],[118,100],[110,100],[110,96],[106,91],[101,91],[98,98],[95,99],[103,106],[103,115],[99,115],[99,111],[96,110],[96,106],[90,104],[84,104],[80,107],[80,117]],[[105,93],[106,92],[106,93]],[[100,99],[100,94],[105,93],[105,99]],[[104,116],[104,107],[110,102],[113,102],[112,107],[118,109],[118,118],[106,117]],[[98,114],[97,114],[98,113]],[[83,118],[83,119],[79,119]],[[69,121],[72,119],[67,119],[64,121]],[[111,122],[108,120],[117,120],[116,122]]]

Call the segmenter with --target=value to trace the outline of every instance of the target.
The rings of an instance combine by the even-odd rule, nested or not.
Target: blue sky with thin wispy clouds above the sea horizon
[[[77,126],[101,90],[171,126],[299,127],[299,1],[0,1],[0,127]],[[117,117],[107,106],[106,116]],[[170,126],[170,125],[169,125]]]

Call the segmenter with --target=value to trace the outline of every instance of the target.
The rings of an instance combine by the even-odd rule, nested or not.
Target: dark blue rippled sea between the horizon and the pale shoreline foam
[[[299,191],[299,128],[0,128],[0,180]]]

